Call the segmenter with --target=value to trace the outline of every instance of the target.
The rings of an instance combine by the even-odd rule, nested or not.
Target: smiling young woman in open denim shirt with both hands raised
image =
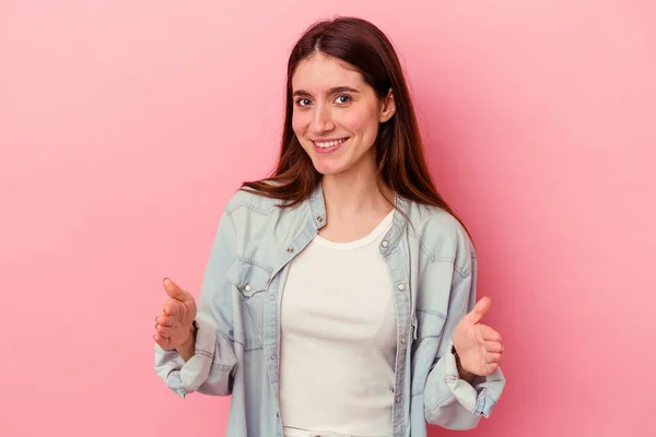
[[[181,397],[232,395],[227,436],[472,428],[505,385],[476,277],[391,44],[320,22],[290,56],[278,167],[226,205],[198,309],[164,280],[155,369]]]

